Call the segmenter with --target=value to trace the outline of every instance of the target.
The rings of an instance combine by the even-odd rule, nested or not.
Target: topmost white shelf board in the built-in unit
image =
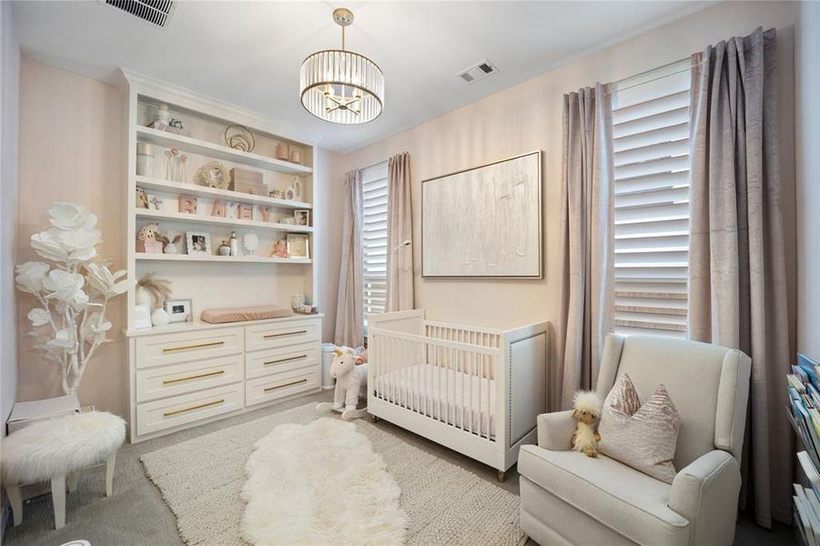
[[[230,161],[232,163],[247,165],[248,167],[257,167],[279,173],[289,173],[293,175],[310,175],[313,173],[312,168],[305,167],[304,165],[297,165],[296,163],[274,159],[273,157],[242,152],[206,142],[205,140],[177,135],[176,133],[168,133],[167,131],[159,131],[150,127],[137,126],[137,140],[160,147],[176,147],[190,154],[196,154],[197,156],[221,159],[222,161]]]

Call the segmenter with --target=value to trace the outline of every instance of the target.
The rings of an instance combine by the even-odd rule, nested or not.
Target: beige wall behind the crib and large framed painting
[[[758,25],[774,26],[778,32],[780,84],[785,90],[780,101],[785,231],[786,240],[794,241],[794,215],[790,214],[795,207],[791,91],[794,9],[795,5],[790,3],[716,5],[349,153],[345,169],[365,167],[393,154],[410,152],[416,307],[428,309],[435,319],[499,327],[557,319],[562,94],[596,81],[616,81],[663,66],[729,36],[747,35]],[[468,281],[420,278],[420,181],[536,149],[544,151],[545,277]],[[794,264],[795,248],[789,248],[788,258]],[[794,270],[789,269],[792,278]],[[794,283],[791,286],[794,288]],[[794,303],[794,291],[790,303]]]

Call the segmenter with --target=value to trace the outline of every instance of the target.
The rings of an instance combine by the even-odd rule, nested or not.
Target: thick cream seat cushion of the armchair
[[[687,544],[689,521],[669,510],[669,484],[617,460],[521,447],[518,471],[552,495],[639,544]]]

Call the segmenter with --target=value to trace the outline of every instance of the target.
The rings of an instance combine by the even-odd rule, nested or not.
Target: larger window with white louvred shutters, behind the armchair
[[[686,334],[689,86],[686,59],[613,88],[616,333]]]

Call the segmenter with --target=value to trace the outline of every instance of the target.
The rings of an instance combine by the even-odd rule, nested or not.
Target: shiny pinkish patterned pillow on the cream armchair
[[[598,450],[657,480],[672,483],[680,430],[681,417],[666,387],[659,386],[642,405],[632,379],[624,373],[603,400]]]

